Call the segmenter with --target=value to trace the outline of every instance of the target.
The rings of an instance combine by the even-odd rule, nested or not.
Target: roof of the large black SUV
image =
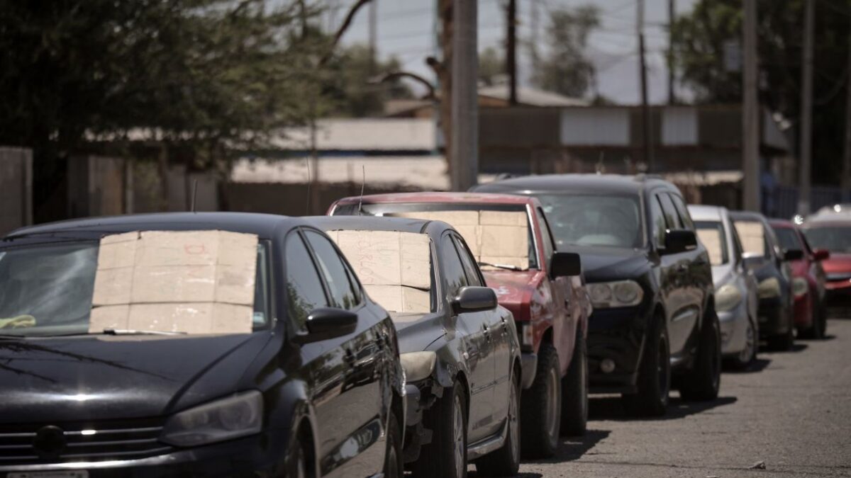
[[[593,193],[640,194],[646,189],[664,186],[678,191],[670,182],[656,176],[637,174],[541,174],[519,178],[501,179],[477,185],[476,192],[507,191],[579,191]]]

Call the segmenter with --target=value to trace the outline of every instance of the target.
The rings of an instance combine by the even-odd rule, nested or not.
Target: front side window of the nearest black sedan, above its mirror
[[[328,307],[328,298],[311,253],[298,232],[289,234],[284,256],[287,261],[289,320],[299,330],[306,330],[307,316],[314,309]]]

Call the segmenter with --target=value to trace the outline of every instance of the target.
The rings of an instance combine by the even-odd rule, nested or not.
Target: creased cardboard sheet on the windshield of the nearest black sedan
[[[134,231],[100,240],[89,332],[250,333],[257,236]]]

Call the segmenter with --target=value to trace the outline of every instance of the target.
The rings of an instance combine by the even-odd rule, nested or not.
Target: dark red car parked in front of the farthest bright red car
[[[771,219],[780,247],[784,251],[802,251],[802,259],[792,260],[792,293],[795,296],[795,328],[802,339],[824,339],[827,330],[825,312],[825,270],[822,261],[830,257],[824,249],[810,248],[801,230],[790,221]]]

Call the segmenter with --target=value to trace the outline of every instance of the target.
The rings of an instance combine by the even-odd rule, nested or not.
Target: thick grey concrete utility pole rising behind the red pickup
[[[467,191],[478,178],[478,5],[453,0],[452,190]]]

